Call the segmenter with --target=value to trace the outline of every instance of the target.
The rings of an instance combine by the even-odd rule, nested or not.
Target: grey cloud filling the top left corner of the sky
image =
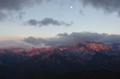
[[[41,3],[43,0],[0,0],[1,10],[21,10],[24,7],[33,5],[34,3]]]

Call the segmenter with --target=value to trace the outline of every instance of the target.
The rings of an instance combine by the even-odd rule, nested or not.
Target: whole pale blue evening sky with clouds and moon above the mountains
[[[120,0],[0,0],[0,48],[120,43]]]

